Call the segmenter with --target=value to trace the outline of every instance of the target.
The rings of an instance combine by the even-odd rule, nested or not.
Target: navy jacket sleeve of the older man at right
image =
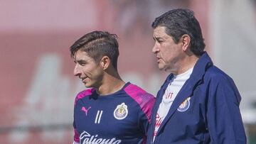
[[[218,77],[208,85],[207,123],[212,143],[246,143],[240,114],[241,96],[230,77]]]

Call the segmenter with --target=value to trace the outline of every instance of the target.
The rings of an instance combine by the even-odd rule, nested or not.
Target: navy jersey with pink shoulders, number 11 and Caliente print
[[[114,94],[100,96],[95,89],[75,99],[74,141],[81,144],[145,143],[155,98],[127,82]]]

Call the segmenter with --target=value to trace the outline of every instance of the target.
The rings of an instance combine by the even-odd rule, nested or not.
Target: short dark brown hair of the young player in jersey
[[[117,35],[106,31],[92,31],[83,35],[70,47],[71,57],[75,57],[78,50],[83,50],[95,60],[100,62],[103,56],[110,57],[114,69],[117,70],[119,56]]]

